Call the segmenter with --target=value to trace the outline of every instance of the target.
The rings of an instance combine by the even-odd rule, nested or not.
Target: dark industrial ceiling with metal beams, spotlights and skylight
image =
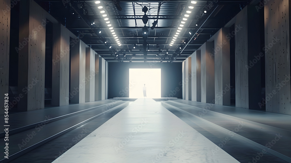
[[[191,1],[178,0],[100,0],[96,4],[95,0],[36,0],[72,33],[84,34],[81,40],[108,62],[182,62],[250,1],[200,0],[193,4]],[[99,9],[98,6],[103,8]],[[146,24],[147,34],[143,34],[144,6],[150,9],[146,12],[149,18]],[[102,10],[105,13],[100,13]],[[191,13],[186,13],[187,10]],[[189,17],[185,17],[185,14],[189,14]],[[187,20],[184,21],[183,18]],[[158,20],[157,25],[150,29],[155,20]],[[110,27],[113,29],[109,29],[107,21],[110,21],[108,24],[112,24]],[[184,26],[174,41],[173,37],[179,30],[181,21],[185,24],[182,24]],[[112,34],[110,30],[115,33]],[[146,42],[144,35],[148,36]],[[114,37],[118,37],[118,41]],[[173,43],[170,44],[172,40]]]

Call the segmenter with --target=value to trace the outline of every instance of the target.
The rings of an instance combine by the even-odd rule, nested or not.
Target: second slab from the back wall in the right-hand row
[[[185,60],[185,100],[191,101],[191,57]]]

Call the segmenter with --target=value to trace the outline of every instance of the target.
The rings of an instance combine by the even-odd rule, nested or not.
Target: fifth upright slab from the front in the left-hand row
[[[86,47],[85,102],[95,101],[95,52]]]

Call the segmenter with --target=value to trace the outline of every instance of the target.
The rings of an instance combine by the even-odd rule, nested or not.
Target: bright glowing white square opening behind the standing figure
[[[130,68],[129,98],[143,98],[144,84],[146,98],[161,98],[161,69]]]

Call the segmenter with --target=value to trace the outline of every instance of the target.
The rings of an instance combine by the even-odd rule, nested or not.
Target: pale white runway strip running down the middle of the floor
[[[238,162],[217,149],[159,102],[138,99],[53,163]]]

